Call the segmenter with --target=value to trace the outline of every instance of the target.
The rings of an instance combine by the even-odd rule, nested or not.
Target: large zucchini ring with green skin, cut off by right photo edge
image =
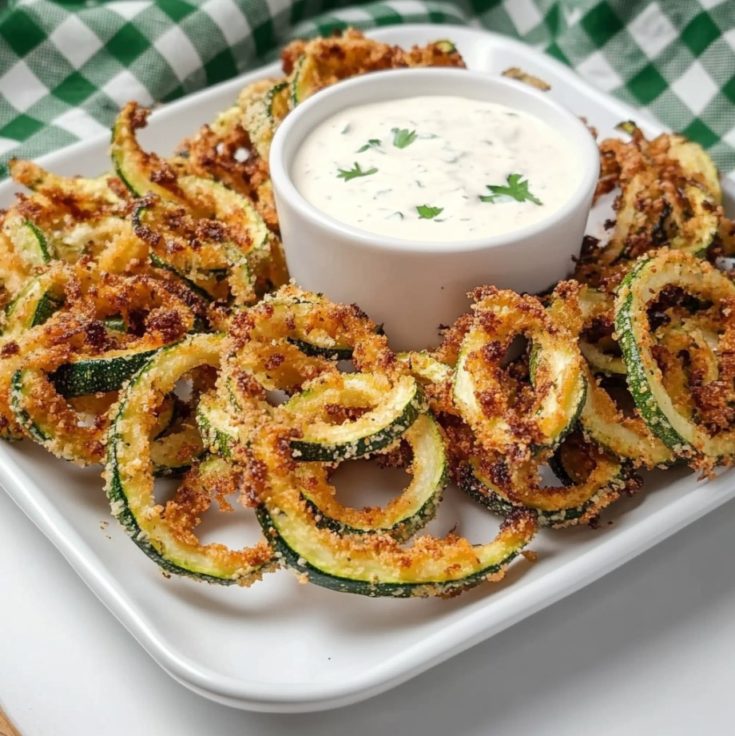
[[[682,251],[663,250],[640,258],[618,288],[615,329],[630,392],[649,429],[676,455],[708,462],[735,455],[735,430],[711,434],[674,404],[654,357],[648,308],[667,287],[715,304],[731,304],[735,285],[709,263]],[[732,328],[731,328],[732,329]]]

